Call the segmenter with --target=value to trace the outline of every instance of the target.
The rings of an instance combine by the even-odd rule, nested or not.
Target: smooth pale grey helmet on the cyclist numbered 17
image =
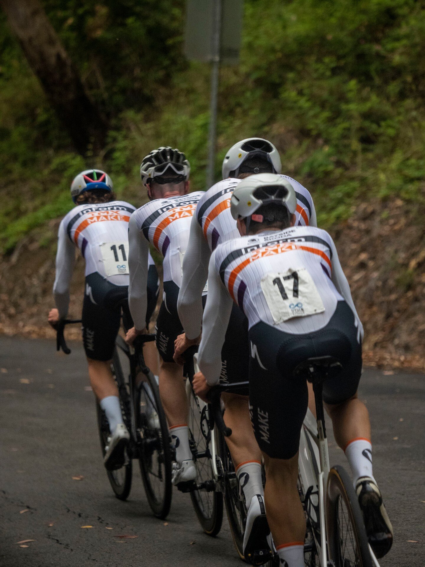
[[[294,214],[296,211],[294,187],[280,175],[250,175],[235,187],[230,200],[230,212],[235,220],[240,217],[247,218],[253,215],[261,205],[269,203],[282,205],[288,209],[290,214]],[[254,217],[253,221],[262,222],[262,219]]]

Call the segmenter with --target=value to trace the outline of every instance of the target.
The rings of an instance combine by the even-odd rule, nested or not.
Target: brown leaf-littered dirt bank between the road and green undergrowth
[[[421,210],[401,200],[371,202],[332,231],[365,329],[368,364],[425,371],[425,226]],[[58,222],[50,223],[52,233]],[[0,260],[0,333],[54,337],[46,324],[53,306],[54,254],[28,236]],[[79,257],[70,314],[79,316],[84,289]],[[77,338],[79,329],[68,336]]]

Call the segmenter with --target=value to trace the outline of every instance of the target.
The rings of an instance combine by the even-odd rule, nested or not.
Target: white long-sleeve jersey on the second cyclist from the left
[[[129,224],[129,305],[135,328],[145,328],[146,265],[149,243],[164,257],[164,282],[181,285],[182,261],[189,241],[190,221],[203,191],[156,199],[131,215]],[[201,290],[202,294],[202,290]]]

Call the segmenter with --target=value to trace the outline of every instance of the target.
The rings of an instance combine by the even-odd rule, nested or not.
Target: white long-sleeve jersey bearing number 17
[[[249,328],[260,321],[292,335],[318,331],[345,299],[363,327],[350,286],[328,232],[292,227],[220,244],[211,256],[209,292],[203,315],[199,368],[209,384],[218,382],[220,352],[235,302]]]

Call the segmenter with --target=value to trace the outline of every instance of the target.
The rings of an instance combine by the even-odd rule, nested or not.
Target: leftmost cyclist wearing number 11
[[[56,278],[53,286],[56,308],[48,321],[56,327],[69,308],[69,286],[75,262],[75,247],[86,260],[82,333],[92,389],[104,410],[111,430],[104,464],[122,466],[129,432],[124,425],[118,390],[111,372],[111,359],[120,328],[121,310],[127,328],[132,326],[128,308],[128,224],[133,205],[118,201],[111,178],[100,170],[86,170],[71,184],[75,207],[62,219],[58,231]],[[158,273],[150,258],[150,319],[159,291]]]

